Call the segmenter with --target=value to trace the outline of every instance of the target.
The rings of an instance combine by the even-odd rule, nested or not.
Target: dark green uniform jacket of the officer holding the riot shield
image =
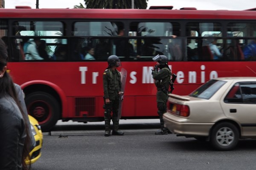
[[[121,76],[118,70],[108,68],[103,73],[104,97],[111,100],[118,99],[118,92],[121,91]]]

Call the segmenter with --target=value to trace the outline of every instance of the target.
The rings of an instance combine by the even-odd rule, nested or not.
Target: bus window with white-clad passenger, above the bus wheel
[[[59,21],[15,21],[12,30],[12,35],[18,36],[16,39],[12,38],[17,42],[16,48],[19,49],[18,60],[50,61],[54,45],[60,39],[42,39],[38,36],[63,36],[64,24]],[[63,39],[63,43],[65,44],[66,40]],[[32,50],[31,44],[36,45],[37,50]]]

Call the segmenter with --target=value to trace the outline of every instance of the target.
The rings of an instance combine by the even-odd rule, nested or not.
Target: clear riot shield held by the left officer
[[[126,85],[126,77],[127,77],[127,71],[124,68],[121,68],[121,93],[119,94],[119,108],[118,108],[118,116],[117,120],[121,118],[122,115],[122,105],[123,105],[123,99],[124,99],[124,88]]]

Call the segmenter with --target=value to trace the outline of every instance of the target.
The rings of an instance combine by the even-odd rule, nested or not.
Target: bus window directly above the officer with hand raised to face
[[[131,22],[129,36],[144,36],[143,39],[131,39],[138,61],[151,61],[152,57],[166,55],[169,60],[182,61],[180,24],[171,22]],[[174,52],[173,52],[174,51]],[[133,54],[134,56],[134,54]],[[130,55],[130,57],[133,57]],[[136,59],[136,58],[134,58]]]

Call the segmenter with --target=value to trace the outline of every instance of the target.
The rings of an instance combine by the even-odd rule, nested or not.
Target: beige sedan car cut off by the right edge
[[[177,136],[234,149],[239,139],[256,138],[256,77],[215,78],[187,96],[170,94],[163,119]]]

